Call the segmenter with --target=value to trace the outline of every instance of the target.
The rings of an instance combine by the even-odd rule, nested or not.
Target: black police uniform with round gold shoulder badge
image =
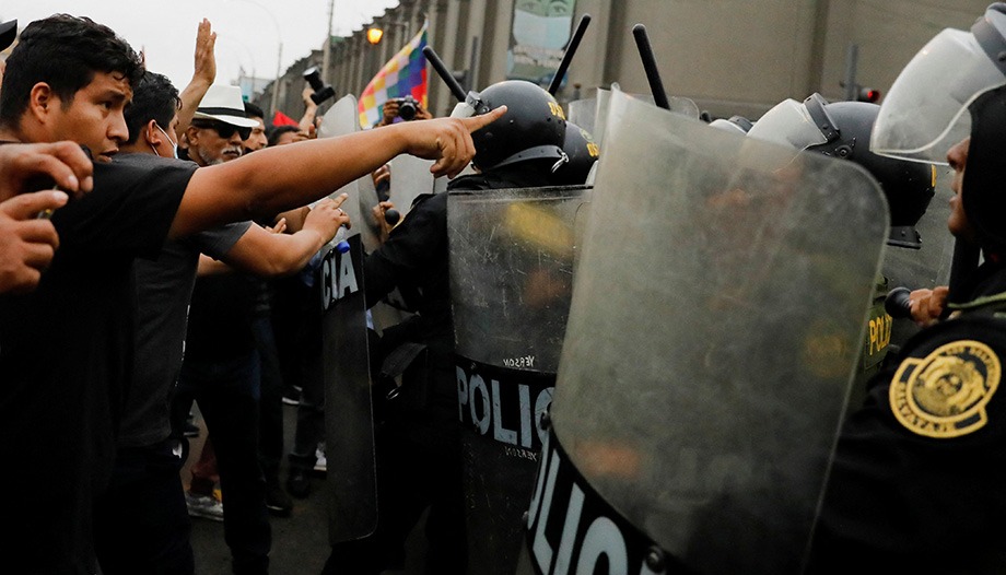
[[[810,573],[1006,573],[1006,266],[960,293],[845,423]]]

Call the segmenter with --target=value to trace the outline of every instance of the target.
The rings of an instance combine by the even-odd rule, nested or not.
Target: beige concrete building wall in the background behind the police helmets
[[[581,97],[589,97],[612,82],[627,92],[648,93],[631,34],[637,23],[646,26],[667,92],[690,97],[715,116],[757,118],[786,97],[802,99],[811,92],[842,98],[840,82],[851,44],[858,46],[857,82],[886,92],[931,37],[945,27],[967,30],[987,4],[989,0],[578,0],[574,25],[584,13],[590,14],[592,23],[558,96],[573,98],[578,84]],[[366,42],[365,28],[334,40],[330,81],[340,96],[359,95],[428,17],[429,43],[449,69],[473,68],[469,81],[476,87],[499,82],[505,79],[513,9],[514,0],[402,0],[375,19],[385,30],[381,45]],[[306,63],[319,64],[320,55],[317,50]],[[303,112],[300,73],[307,66],[300,66],[302,61],[280,81],[278,107],[295,118]],[[430,107],[435,115],[446,115],[455,101],[432,68],[429,78]],[[267,110],[270,98],[271,87],[259,99]]]

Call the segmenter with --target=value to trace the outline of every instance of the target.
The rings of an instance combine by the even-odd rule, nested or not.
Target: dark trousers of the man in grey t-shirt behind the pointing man
[[[118,450],[112,482],[94,515],[105,575],[195,572],[191,524],[178,480],[183,463],[175,439]]]

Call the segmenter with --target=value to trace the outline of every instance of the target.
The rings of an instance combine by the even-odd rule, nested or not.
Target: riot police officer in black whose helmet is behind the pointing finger
[[[480,93],[488,109],[507,106],[498,127],[473,140],[477,174],[448,190],[546,186],[568,157],[565,120],[554,98],[524,81],[506,81]],[[558,110],[558,114],[557,114]],[[383,210],[387,204],[382,204]],[[325,573],[377,574],[401,561],[402,544],[429,506],[426,573],[466,568],[461,456],[454,374],[454,324],[447,257],[447,193],[421,195],[387,240],[364,262],[367,307],[394,289],[416,310],[384,329],[385,356],[417,350],[400,392],[379,409],[375,443],[378,519],[376,532],[332,545]]]

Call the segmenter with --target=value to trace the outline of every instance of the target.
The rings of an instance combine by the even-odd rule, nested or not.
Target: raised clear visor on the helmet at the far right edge
[[[971,132],[968,106],[1004,84],[1006,77],[973,34],[945,30],[894,80],[874,124],[870,151],[946,164],[950,148]]]

